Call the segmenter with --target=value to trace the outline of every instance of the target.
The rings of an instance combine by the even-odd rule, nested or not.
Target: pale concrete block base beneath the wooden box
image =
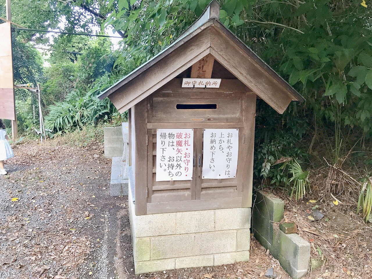
[[[135,273],[249,259],[250,208],[138,215],[129,189]],[[231,222],[231,217],[234,221]]]

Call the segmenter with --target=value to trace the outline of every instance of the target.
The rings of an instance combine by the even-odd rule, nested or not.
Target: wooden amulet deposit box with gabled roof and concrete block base
[[[185,88],[184,78],[221,82]],[[129,115],[136,273],[248,260],[256,99],[283,113],[302,97],[222,25],[217,1],[173,44],[99,96],[105,97]],[[192,179],[157,181],[161,129],[192,129]],[[237,131],[230,178],[203,179],[208,129]]]

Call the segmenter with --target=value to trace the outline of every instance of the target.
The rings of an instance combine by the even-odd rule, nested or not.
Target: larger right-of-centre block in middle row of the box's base
[[[236,249],[236,231],[212,231],[195,234],[195,255],[232,252]]]

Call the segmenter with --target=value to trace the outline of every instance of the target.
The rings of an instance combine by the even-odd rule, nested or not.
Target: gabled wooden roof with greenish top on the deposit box
[[[98,97],[109,97],[119,112],[125,112],[208,54],[279,113],[292,100],[304,100],[219,21],[216,0],[171,45]]]

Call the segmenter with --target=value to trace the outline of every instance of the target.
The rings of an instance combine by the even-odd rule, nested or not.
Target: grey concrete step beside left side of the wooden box
[[[125,179],[125,168],[122,167],[122,157],[112,157],[110,195],[127,196],[128,195],[128,178]],[[123,172],[122,172],[123,171]],[[128,175],[126,176],[128,177]]]

